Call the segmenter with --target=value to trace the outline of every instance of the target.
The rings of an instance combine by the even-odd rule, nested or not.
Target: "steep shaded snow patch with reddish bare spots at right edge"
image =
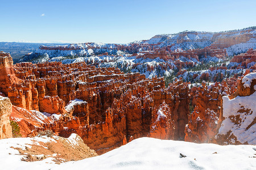
[[[227,96],[223,96],[223,117],[221,127],[218,134],[225,135],[231,131],[230,135],[237,137],[237,141],[241,143],[248,142],[250,145],[256,145],[256,124],[251,123],[256,117],[256,92],[250,96],[237,96],[230,100]],[[238,124],[235,124],[236,116],[240,118]],[[248,129],[248,127],[250,127]]]

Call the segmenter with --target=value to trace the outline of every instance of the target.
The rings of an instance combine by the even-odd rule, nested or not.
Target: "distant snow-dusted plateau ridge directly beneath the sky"
[[[25,56],[22,61],[33,61],[40,55],[45,55],[49,59],[53,57],[89,57],[98,54],[133,54],[141,53],[156,48],[166,48],[166,50],[179,51],[203,49],[226,49],[229,56],[245,53],[248,49],[256,48],[256,28],[249,27],[239,30],[224,32],[202,32],[184,31],[174,34],[155,35],[149,40],[134,41],[127,44],[105,44],[95,42],[85,42],[69,45],[42,45],[32,56]]]

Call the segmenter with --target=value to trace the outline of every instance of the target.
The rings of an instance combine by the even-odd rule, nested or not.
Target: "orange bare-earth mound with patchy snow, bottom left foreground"
[[[77,156],[71,154],[72,150],[75,150],[76,153],[79,153],[81,150],[81,148],[79,147],[82,147],[83,149],[87,149],[89,151],[89,156],[86,152],[82,152],[87,154],[87,156],[84,155],[84,158],[97,155],[96,152],[94,152],[93,150],[89,150],[89,147],[81,145],[81,142],[82,139],[79,137],[79,135],[75,133],[71,134],[69,138],[62,138],[55,135],[53,135],[53,137],[47,137],[46,135],[43,135],[42,137],[34,138],[1,139],[0,169],[51,169],[52,167],[57,165],[55,164],[56,159],[65,161],[65,159],[63,159],[64,157],[61,157],[63,156],[61,155],[61,151],[58,151],[58,149],[63,149],[65,151],[65,154],[70,154],[71,159],[74,159]],[[82,144],[84,143],[82,142]],[[63,145],[66,145],[67,148],[63,147]],[[56,146],[58,146],[59,148]],[[43,147],[43,149],[40,147]],[[20,155],[20,152],[14,148],[20,148],[24,151],[26,155]],[[31,148],[34,148],[32,149],[32,152],[30,151]],[[54,154],[48,155],[46,153]],[[25,162],[21,160],[25,159],[30,161],[30,159],[27,158],[31,157],[34,157],[36,159],[43,159],[36,162]]]

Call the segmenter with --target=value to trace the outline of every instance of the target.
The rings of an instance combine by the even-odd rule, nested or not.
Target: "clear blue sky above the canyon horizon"
[[[114,42],[256,25],[255,0],[0,0],[0,41]]]

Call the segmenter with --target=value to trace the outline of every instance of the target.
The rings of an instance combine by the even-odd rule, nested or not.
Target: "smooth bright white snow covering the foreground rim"
[[[44,159],[22,162],[10,146],[21,147],[29,138],[0,140],[2,169],[256,169],[256,146],[197,144],[139,138],[106,154],[60,165]],[[10,154],[9,154],[10,153]],[[181,158],[180,154],[187,157]],[[48,163],[46,163],[48,162]]]

